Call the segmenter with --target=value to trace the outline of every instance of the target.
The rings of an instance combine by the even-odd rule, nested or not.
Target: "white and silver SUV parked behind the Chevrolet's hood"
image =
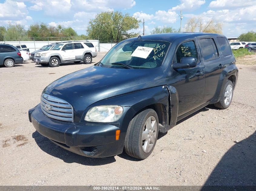
[[[51,50],[35,54],[34,61],[42,66],[57,67],[60,63],[83,61],[91,64],[92,58],[97,56],[96,48],[88,41],[69,41],[56,44]]]

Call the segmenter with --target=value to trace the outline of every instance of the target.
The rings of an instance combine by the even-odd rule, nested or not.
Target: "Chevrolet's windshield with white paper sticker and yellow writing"
[[[127,68],[125,65],[134,69],[156,68],[162,65],[169,45],[158,40],[125,41],[114,46],[100,63],[113,68]]]

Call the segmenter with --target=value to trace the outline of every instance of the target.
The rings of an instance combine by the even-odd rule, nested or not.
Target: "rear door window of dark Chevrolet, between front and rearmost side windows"
[[[200,39],[204,60],[212,60],[218,58],[218,51],[212,38]]]

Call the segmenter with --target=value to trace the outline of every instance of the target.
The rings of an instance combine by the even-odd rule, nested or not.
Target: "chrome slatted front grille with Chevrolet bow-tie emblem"
[[[52,119],[73,122],[72,106],[58,97],[42,94],[41,108],[42,112]]]

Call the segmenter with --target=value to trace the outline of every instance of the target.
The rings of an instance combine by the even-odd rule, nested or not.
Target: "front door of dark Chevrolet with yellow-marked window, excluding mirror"
[[[193,68],[172,69],[168,85],[178,91],[178,116],[202,105],[204,97],[204,65],[200,59],[196,39],[181,43],[176,50],[172,64],[180,63],[182,57],[194,57],[197,65]]]

